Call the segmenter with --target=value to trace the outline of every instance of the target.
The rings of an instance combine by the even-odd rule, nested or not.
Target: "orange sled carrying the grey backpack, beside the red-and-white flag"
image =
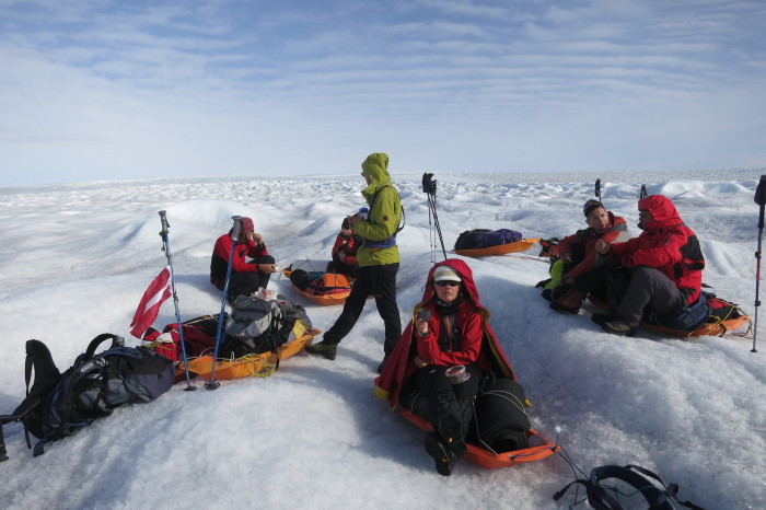
[[[322,333],[320,329],[311,329],[305,335],[289,341],[277,349],[259,355],[248,355],[235,359],[219,358],[216,361],[216,379],[242,379],[249,376],[267,376],[276,370],[277,361],[282,361],[311,345],[313,338]],[[200,356],[189,361],[189,372],[196,376],[210,380],[212,374],[212,356]],[[176,369],[176,381],[185,378],[184,363]]]

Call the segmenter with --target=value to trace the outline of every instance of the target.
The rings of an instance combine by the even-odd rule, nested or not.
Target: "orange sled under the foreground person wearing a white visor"
[[[407,421],[415,425],[420,430],[426,432],[431,432],[433,430],[431,424],[429,424],[422,417],[410,413],[402,406],[398,406],[397,410],[405,417],[405,419],[407,419]],[[485,450],[481,447],[477,447],[476,444],[467,443],[466,448],[468,451],[465,453],[463,459],[486,470],[495,470],[498,467],[508,467],[515,464],[522,464],[524,462],[539,461],[553,455],[561,449],[556,441],[546,438],[534,429],[527,430],[526,437],[529,439],[535,438],[538,444],[536,447],[530,447],[523,450],[495,453],[489,450]]]

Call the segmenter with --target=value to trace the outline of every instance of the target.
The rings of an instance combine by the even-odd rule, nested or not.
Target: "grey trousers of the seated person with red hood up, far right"
[[[630,326],[638,326],[647,309],[673,314],[686,304],[675,282],[649,266],[617,271],[607,281],[610,310]]]

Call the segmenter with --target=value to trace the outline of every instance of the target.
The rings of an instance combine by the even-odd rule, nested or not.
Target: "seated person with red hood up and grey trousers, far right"
[[[638,201],[643,232],[624,243],[599,240],[600,256],[619,269],[607,279],[610,313],[592,320],[606,333],[634,336],[647,311],[673,315],[699,299],[705,258],[695,233],[684,224],[673,202],[662,195]]]

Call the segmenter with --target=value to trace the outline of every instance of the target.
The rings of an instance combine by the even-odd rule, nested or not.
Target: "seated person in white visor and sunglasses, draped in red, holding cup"
[[[437,264],[376,382],[375,395],[392,407],[402,404],[415,412],[416,399],[423,404],[425,418],[433,427],[423,445],[444,476],[466,452],[483,375],[514,379],[488,318],[467,264],[460,259]],[[455,366],[465,368],[464,380],[448,376]]]

